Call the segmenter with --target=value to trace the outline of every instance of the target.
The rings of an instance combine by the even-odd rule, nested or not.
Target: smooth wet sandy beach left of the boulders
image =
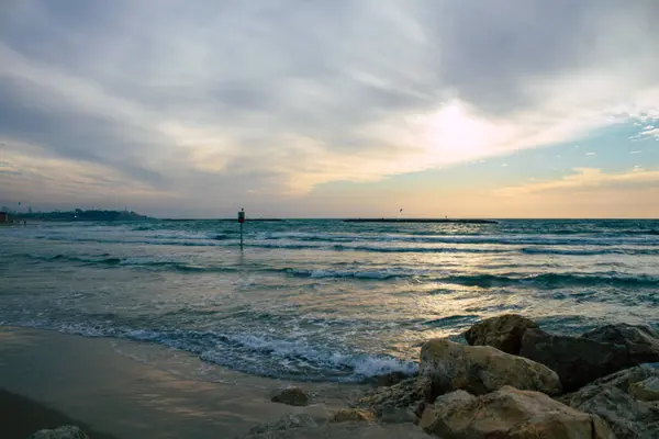
[[[83,427],[92,439],[244,437],[257,424],[290,413],[324,423],[360,391],[356,385],[297,383],[312,395],[311,405],[271,403],[269,393],[288,384],[210,367],[161,347],[0,328],[7,439],[63,424]],[[331,430],[327,435],[335,436]],[[359,437],[381,434],[377,426],[367,430]],[[395,430],[391,437],[413,434]]]

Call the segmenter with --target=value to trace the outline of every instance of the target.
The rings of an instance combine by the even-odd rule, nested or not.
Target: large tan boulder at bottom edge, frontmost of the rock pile
[[[420,426],[453,439],[614,439],[605,421],[539,392],[505,386],[473,397],[455,392],[437,398]]]

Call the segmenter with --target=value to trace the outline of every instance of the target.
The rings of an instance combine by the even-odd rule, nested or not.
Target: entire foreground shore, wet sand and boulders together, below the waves
[[[199,359],[172,349],[0,326],[0,404],[14,419],[3,437],[59,423],[102,431],[97,439],[567,431],[610,439],[659,431],[659,335],[649,326],[605,325],[574,337],[503,314],[471,326],[466,340],[428,339],[417,375],[388,376],[371,391],[338,383],[290,389],[223,368],[208,374],[208,364],[199,370]]]

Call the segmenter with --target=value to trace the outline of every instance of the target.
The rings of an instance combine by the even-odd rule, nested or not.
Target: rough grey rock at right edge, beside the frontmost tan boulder
[[[632,393],[636,384],[657,379],[659,370],[636,367],[604,376],[561,402],[579,410],[602,417],[618,439],[659,438],[659,404],[638,399]]]

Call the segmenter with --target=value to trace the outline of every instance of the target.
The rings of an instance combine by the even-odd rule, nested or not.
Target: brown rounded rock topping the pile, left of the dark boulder
[[[505,314],[477,323],[467,330],[465,338],[471,346],[491,346],[517,354],[526,329],[537,327],[538,325],[529,318],[517,314]]]

